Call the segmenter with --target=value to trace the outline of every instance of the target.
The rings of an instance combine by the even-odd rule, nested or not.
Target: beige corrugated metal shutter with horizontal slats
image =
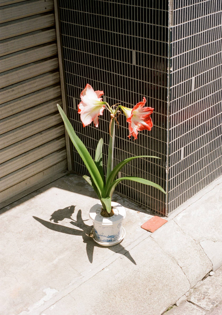
[[[67,169],[53,9],[0,2],[0,208]]]

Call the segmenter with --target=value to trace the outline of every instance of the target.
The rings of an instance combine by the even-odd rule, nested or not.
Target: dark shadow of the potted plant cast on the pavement
[[[100,246],[97,243],[95,243],[93,238],[89,236],[93,226],[92,225],[89,226],[89,225],[85,224],[84,221],[88,221],[88,220],[83,220],[82,219],[82,211],[81,211],[81,209],[79,209],[79,211],[77,213],[76,220],[73,220],[72,215],[74,213],[74,209],[75,209],[75,206],[72,205],[70,207],[66,207],[64,209],[58,209],[58,210],[54,211],[53,214],[51,215],[50,221],[53,220],[55,223],[52,223],[52,222],[49,222],[49,221],[45,221],[45,220],[40,219],[40,218],[35,217],[35,216],[33,216],[33,218],[36,221],[40,222],[45,227],[47,227],[48,229],[50,229],[50,230],[53,230],[53,231],[56,231],[56,232],[60,232],[60,233],[70,234],[70,235],[82,236],[83,242],[86,243],[86,253],[87,253],[89,262],[92,263],[93,262],[94,247],[95,246],[96,247],[103,247],[103,246]],[[74,229],[72,227],[64,226],[64,225],[61,225],[61,224],[57,224],[59,221],[62,221],[64,219],[72,220],[70,222],[70,224],[78,227],[81,230]],[[130,261],[132,261],[134,265],[136,265],[136,262],[134,261],[133,257],[121,245],[121,243],[119,243],[117,245],[114,245],[114,246],[107,247],[107,248],[110,249],[111,251],[113,251],[114,253],[122,253]]]

